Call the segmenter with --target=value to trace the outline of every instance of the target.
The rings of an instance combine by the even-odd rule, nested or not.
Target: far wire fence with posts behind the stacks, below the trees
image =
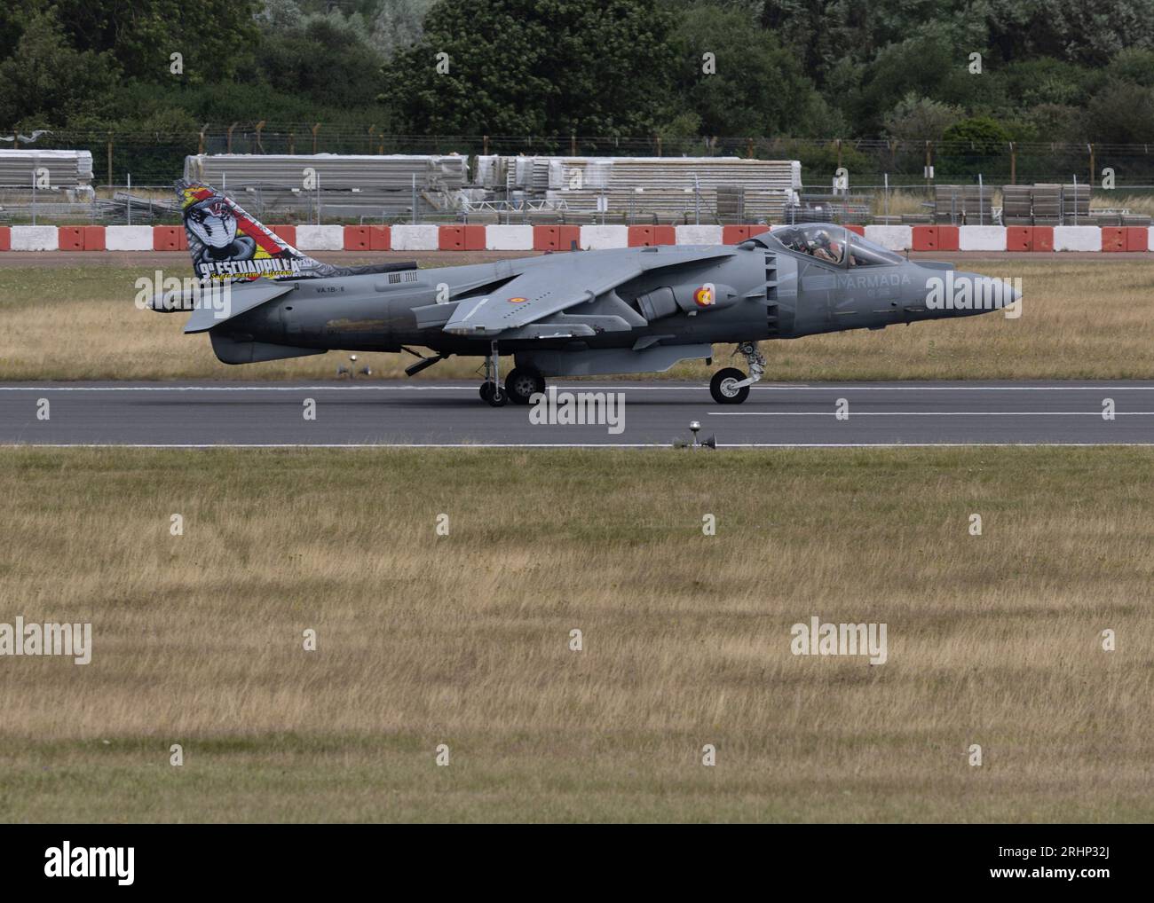
[[[971,182],[979,173],[992,185],[1099,182],[1112,171],[1119,186],[1154,183],[1154,145],[1058,142],[932,142],[788,137],[598,137],[582,135],[397,135],[376,126],[364,130],[323,122],[210,125],[198,131],[67,131],[39,144],[88,150],[98,185],[135,181],[163,185],[194,153],[460,153],[569,156],[739,156],[799,159],[807,178],[827,181],[839,167],[850,180],[881,183]],[[932,172],[932,175],[930,173]]]

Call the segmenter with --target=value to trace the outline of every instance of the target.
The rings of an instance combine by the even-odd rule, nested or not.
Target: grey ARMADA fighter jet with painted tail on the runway
[[[728,344],[747,371],[719,369],[710,392],[719,405],[741,404],[765,375],[762,341],[968,316],[1018,300],[999,280],[912,262],[825,223],[766,227],[735,246],[339,268],[205,185],[181,181],[177,191],[196,280],[149,306],[190,309],[185,332],[208,332],[219,360],[404,351],[419,359],[406,369],[412,376],[454,354],[478,356],[480,397],[494,407],[529,404],[547,377],[659,373],[696,359],[712,366],[713,346]],[[501,354],[516,363],[503,381]]]

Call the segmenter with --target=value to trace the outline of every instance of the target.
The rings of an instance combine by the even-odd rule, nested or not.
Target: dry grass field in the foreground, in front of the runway
[[[93,650],[0,659],[0,820],[1149,821],[1152,480],[1138,449],[5,450],[0,622]],[[887,624],[889,661],[794,656],[811,616]]]

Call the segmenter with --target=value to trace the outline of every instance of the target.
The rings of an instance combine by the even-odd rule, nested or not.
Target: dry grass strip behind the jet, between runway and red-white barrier
[[[1110,257],[1110,255],[1106,255]],[[769,377],[818,379],[1152,378],[1154,274],[1145,261],[979,261],[964,269],[1020,277],[1022,316],[892,326],[769,343]],[[228,367],[185,316],[138,310],[134,284],[147,268],[0,270],[0,381],[285,379],[332,377],[345,359],[323,356]],[[183,272],[183,270],[181,270]],[[718,348],[718,361],[728,349]],[[379,377],[412,358],[361,355]],[[450,359],[418,378],[473,378],[480,359]],[[669,376],[704,378],[704,364]]]

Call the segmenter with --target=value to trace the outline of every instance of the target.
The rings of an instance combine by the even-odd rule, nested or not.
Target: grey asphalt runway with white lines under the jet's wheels
[[[690,421],[719,447],[1154,445],[1154,382],[550,383],[555,420],[493,408],[470,382],[0,384],[0,444],[200,446],[668,446]],[[565,393],[620,393],[600,423],[563,422]],[[607,400],[607,397],[606,399]],[[312,404],[309,404],[312,402]],[[309,408],[315,419],[307,419]],[[1103,411],[1110,417],[1103,416]]]

